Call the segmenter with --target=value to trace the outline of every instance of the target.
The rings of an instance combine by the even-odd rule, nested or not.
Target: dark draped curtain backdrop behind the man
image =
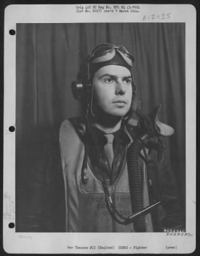
[[[59,126],[80,115],[71,83],[104,42],[132,52],[141,111],[161,103],[160,120],[175,129],[164,143],[185,207],[185,24],[17,24],[17,232],[63,231]]]

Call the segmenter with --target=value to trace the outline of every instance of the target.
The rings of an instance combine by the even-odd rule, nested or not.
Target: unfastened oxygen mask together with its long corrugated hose
[[[134,140],[130,145],[127,152],[127,167],[128,167],[128,182],[130,188],[130,199],[132,205],[132,212],[143,211],[143,191],[142,191],[142,173],[139,170],[139,154],[145,144],[150,147],[151,138],[159,138],[160,136],[170,136],[173,134],[174,129],[169,125],[163,124],[158,120],[158,112],[161,105],[153,109],[148,116],[142,116],[139,113],[139,122],[137,124],[138,134],[140,138]],[[158,140],[157,148],[162,148],[163,145]],[[152,148],[153,149],[153,148]],[[154,206],[160,204],[157,202]],[[131,218],[130,218],[131,219]],[[145,232],[146,223],[145,216],[139,215],[134,220],[135,232]]]

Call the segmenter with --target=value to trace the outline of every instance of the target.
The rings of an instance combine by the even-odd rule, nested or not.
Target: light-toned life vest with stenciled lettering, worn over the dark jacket
[[[84,143],[81,135],[85,132],[85,125],[76,122],[74,127],[70,120],[61,124],[59,141],[63,179],[65,184],[65,231],[66,232],[135,232],[133,223],[123,225],[112,218],[105,200],[104,188],[101,180],[95,176],[88,158],[86,184],[82,183],[81,170],[84,159]],[[127,131],[128,132],[128,131]],[[139,168],[142,173],[142,191],[144,207],[150,205],[148,195],[146,164],[140,158]],[[127,161],[118,179],[108,185],[114,207],[123,216],[132,214],[130,192],[128,185]],[[146,232],[153,232],[151,213],[145,216]]]

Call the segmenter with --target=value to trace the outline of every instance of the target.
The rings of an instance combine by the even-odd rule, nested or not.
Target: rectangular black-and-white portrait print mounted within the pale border
[[[185,23],[17,23],[16,232],[183,232]]]

